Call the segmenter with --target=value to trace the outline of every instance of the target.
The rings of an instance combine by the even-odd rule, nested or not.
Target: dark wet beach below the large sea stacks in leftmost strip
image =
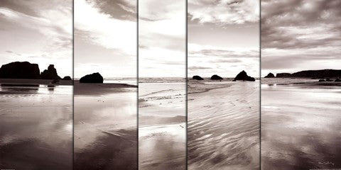
[[[72,86],[1,86],[0,152],[1,169],[72,169]]]

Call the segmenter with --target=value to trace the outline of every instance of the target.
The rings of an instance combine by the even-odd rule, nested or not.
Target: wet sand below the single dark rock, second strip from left
[[[75,81],[74,169],[137,169],[137,91]]]

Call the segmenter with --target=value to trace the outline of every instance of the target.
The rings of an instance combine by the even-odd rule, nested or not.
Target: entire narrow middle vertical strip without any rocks
[[[185,0],[139,1],[139,169],[186,169]]]

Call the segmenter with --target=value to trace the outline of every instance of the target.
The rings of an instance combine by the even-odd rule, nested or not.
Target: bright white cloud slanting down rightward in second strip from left
[[[75,29],[95,45],[136,55],[136,21],[112,18],[95,1],[75,0]]]

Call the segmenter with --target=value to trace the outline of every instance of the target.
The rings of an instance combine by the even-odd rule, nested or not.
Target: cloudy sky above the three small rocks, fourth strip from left
[[[188,0],[188,77],[259,77],[259,1]]]

